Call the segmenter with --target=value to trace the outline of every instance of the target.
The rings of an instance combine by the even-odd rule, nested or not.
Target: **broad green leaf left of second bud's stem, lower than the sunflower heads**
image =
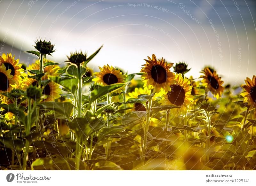
[[[44,102],[38,105],[41,110],[54,111],[55,118],[70,120],[73,105],[68,102]]]

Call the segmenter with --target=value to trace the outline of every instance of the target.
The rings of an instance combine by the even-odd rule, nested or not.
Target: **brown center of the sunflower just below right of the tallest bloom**
[[[172,85],[171,89],[167,93],[169,101],[177,106],[182,105],[185,100],[185,90],[180,85]]]

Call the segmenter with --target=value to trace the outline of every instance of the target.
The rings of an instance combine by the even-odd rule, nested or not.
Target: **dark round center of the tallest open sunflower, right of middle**
[[[156,83],[164,83],[167,80],[167,72],[163,66],[155,65],[151,69],[151,77]]]

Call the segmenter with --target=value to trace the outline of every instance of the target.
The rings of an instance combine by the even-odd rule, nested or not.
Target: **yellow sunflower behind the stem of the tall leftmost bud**
[[[52,61],[44,59],[43,64],[46,62],[52,62]],[[49,79],[49,76],[58,76],[59,69],[60,69],[60,67],[58,65],[46,66],[43,69],[43,72],[46,74],[42,77],[42,80]],[[27,70],[40,70],[40,61],[36,60],[35,63],[32,63],[31,65],[28,66]],[[30,75],[34,75],[34,74],[30,74]]]

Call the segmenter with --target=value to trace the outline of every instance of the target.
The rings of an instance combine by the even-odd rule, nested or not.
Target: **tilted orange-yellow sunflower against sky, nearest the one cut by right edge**
[[[216,71],[213,71],[212,73],[209,67],[205,67],[202,73],[204,73],[204,75],[201,75],[200,77],[204,78],[202,80],[203,86],[210,89],[213,96],[219,99],[224,90],[224,87],[221,86],[223,84],[221,77],[217,75]]]

